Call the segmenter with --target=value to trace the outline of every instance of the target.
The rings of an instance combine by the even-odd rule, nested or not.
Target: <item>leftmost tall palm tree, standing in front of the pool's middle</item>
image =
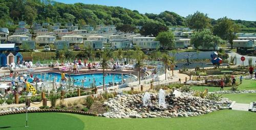
[[[100,65],[101,65],[101,68],[102,68],[102,71],[103,71],[103,90],[105,89],[105,77],[104,77],[104,73],[105,73],[105,69],[108,69],[109,67],[109,63],[108,61],[111,59],[111,51],[110,49],[106,48],[102,51],[102,54],[101,54],[101,62],[100,62]]]

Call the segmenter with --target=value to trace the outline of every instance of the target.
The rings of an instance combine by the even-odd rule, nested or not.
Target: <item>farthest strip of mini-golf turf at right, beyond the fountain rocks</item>
[[[237,79],[237,83],[240,82]],[[208,86],[191,86],[193,90],[203,91],[205,88],[208,88],[209,92],[219,91],[220,87],[208,87]],[[225,87],[224,90],[228,90],[230,87]],[[253,80],[243,80],[242,84],[238,86],[239,90],[255,90],[256,89],[256,81]]]

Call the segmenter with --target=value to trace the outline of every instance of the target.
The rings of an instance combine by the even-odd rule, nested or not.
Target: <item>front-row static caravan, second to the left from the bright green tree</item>
[[[113,48],[115,49],[130,49],[130,48],[133,48],[133,43],[132,41],[128,41],[128,40],[125,40],[125,41],[111,41],[110,44],[112,45]]]

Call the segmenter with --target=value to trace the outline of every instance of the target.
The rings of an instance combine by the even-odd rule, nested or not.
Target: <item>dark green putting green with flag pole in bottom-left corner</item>
[[[62,113],[28,113],[28,126],[26,114],[0,116],[0,129],[84,129],[84,123],[76,116]]]

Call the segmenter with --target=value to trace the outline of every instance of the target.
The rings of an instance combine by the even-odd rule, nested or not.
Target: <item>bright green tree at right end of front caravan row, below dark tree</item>
[[[165,48],[165,47],[172,47],[173,49],[175,48],[174,46],[174,34],[172,32],[160,32],[156,39],[156,41],[160,41],[160,45]]]

